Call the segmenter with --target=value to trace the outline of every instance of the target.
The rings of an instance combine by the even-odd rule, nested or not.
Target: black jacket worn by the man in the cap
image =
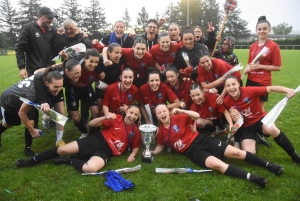
[[[53,65],[53,46],[57,37],[53,27],[43,33],[37,22],[25,24],[16,42],[16,57],[19,69],[26,68],[28,74],[39,68]],[[26,56],[26,61],[25,61]]]

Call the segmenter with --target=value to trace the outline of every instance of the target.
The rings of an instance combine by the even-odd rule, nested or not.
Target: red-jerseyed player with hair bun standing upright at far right
[[[248,73],[246,86],[271,86],[271,72],[281,70],[280,49],[275,42],[268,39],[270,31],[271,25],[266,19],[266,16],[259,17],[256,24],[258,41],[250,46],[248,57],[249,67],[246,68],[245,71],[245,73]],[[270,53],[258,63],[250,64],[264,47],[268,47]],[[267,101],[268,94],[260,97],[260,103],[263,109]]]

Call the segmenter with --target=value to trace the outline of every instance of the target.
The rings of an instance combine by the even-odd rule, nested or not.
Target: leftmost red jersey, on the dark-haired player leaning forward
[[[98,68],[98,66],[96,67]],[[78,80],[78,82],[70,82],[75,87],[87,87],[90,86],[94,81],[99,80],[99,75],[97,74],[97,69],[94,69],[93,71],[89,71],[85,69],[84,63],[81,65],[81,76]]]

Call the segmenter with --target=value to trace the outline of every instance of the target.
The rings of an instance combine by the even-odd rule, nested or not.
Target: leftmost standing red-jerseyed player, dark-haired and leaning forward
[[[98,62],[99,53],[97,50],[87,50],[84,53],[83,63],[81,64],[81,76],[78,82],[69,80],[65,87],[67,108],[75,126],[82,132],[80,137],[87,136],[87,129],[78,111],[79,100],[84,101],[89,106],[92,118],[99,116],[97,97],[92,87],[92,83],[100,79],[100,75],[96,70]],[[94,133],[94,131],[93,128],[90,129],[91,134]]]

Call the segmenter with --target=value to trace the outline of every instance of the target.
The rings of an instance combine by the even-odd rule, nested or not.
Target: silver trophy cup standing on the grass
[[[139,126],[141,131],[142,142],[146,145],[146,151],[142,155],[142,161],[145,163],[151,163],[153,161],[153,155],[150,153],[150,144],[154,141],[157,135],[157,127],[152,124],[144,124]]]

